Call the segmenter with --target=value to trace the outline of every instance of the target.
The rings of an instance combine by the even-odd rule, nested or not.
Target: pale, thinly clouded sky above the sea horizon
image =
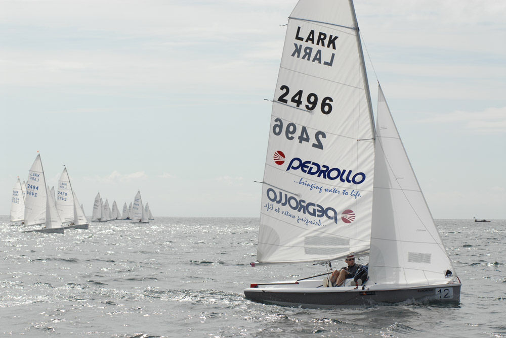
[[[0,214],[37,151],[91,215],[137,190],[156,216],[259,217],[296,0],[0,1]],[[431,212],[506,219],[506,2],[355,1]]]

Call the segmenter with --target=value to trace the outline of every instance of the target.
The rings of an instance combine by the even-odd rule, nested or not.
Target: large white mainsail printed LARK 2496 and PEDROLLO
[[[290,15],[262,189],[260,263],[369,250],[370,96],[348,0],[301,0]]]

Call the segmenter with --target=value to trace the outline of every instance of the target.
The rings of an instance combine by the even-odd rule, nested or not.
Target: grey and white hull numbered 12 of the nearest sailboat
[[[244,289],[247,299],[303,308],[354,308],[377,304],[458,304],[460,283],[392,287],[376,285],[323,287],[321,280],[278,281]],[[281,284],[284,283],[284,284]],[[287,284],[288,283],[288,284]],[[255,286],[255,284],[252,284]]]

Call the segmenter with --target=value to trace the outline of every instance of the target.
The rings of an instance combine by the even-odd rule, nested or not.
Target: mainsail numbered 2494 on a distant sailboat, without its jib
[[[40,154],[37,154],[30,171],[26,184],[25,199],[25,225],[46,223],[47,204],[46,179]]]

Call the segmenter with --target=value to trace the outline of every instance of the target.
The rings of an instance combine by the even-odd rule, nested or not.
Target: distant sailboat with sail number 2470
[[[88,221],[85,212],[79,205],[77,196],[70,183],[67,168],[63,168],[60,179],[58,180],[58,197],[56,198],[56,208],[63,223],[64,229],[88,229]]]

